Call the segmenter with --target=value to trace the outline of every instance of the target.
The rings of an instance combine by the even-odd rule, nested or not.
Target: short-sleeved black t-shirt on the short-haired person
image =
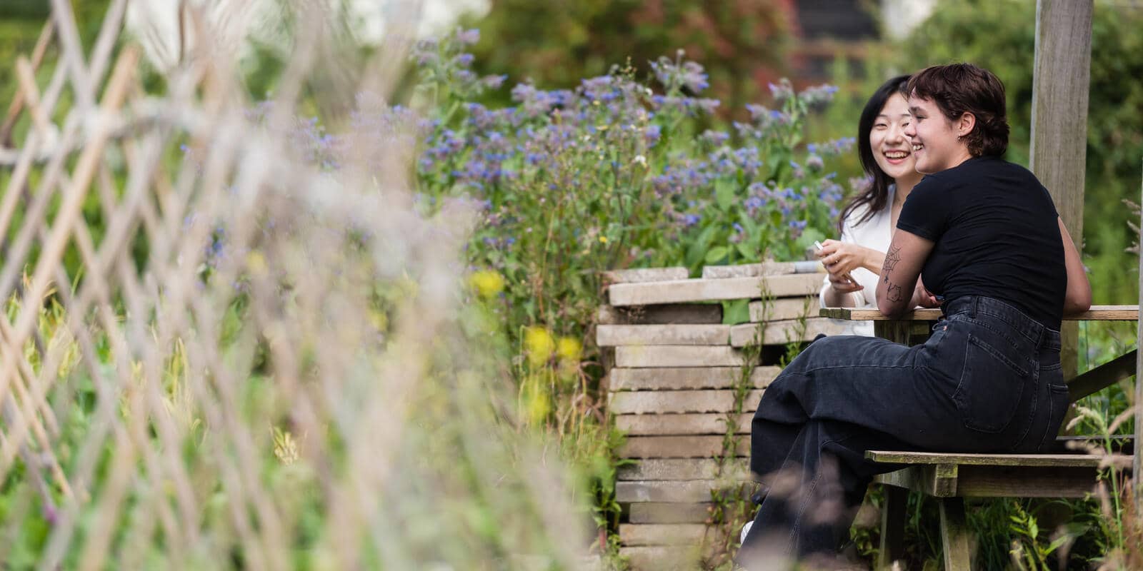
[[[1057,216],[1028,169],[978,156],[922,178],[897,227],[934,242],[921,279],[945,301],[992,297],[1060,329],[1068,271]]]

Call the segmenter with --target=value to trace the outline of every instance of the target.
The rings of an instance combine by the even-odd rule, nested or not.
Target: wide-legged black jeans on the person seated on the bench
[[[769,486],[750,555],[836,553],[873,475],[866,450],[1046,450],[1068,409],[1060,332],[988,297],[961,297],[924,345],[814,341],[762,393],[750,469]],[[775,553],[776,552],[776,553]]]

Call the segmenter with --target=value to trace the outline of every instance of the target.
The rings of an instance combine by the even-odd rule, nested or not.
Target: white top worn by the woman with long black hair
[[[889,185],[889,198],[885,201],[885,208],[879,212],[876,212],[870,219],[865,220],[861,225],[855,225],[857,220],[868,211],[869,207],[862,206],[846,216],[845,222],[841,223],[841,238],[842,242],[850,242],[858,246],[864,246],[877,250],[879,252],[885,252],[889,249],[889,242],[893,240],[893,195],[896,193],[896,185]],[[864,267],[858,267],[849,273],[857,283],[864,287],[861,291],[854,291],[849,293],[856,301],[856,307],[858,308],[876,308],[877,307],[877,280],[878,274],[865,270]],[[818,293],[817,299],[825,307],[825,290],[830,287],[830,276],[826,275],[823,280],[822,291]],[[847,320],[836,320],[836,323],[842,325],[844,332],[840,335],[863,335],[866,337],[873,336],[873,322],[872,321],[847,321]]]

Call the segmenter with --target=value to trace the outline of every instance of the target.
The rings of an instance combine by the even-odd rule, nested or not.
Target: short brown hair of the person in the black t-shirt
[[[932,99],[951,121],[965,113],[976,116],[976,127],[965,136],[973,156],[1008,151],[1004,83],[992,72],[973,64],[934,65],[914,73],[905,91]]]

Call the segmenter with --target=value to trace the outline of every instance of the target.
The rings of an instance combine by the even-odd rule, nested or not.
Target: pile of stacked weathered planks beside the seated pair
[[[626,523],[621,553],[634,569],[693,568],[709,533],[711,491],[746,477],[750,418],[761,392],[778,373],[776,355],[762,352],[752,389],[737,418],[736,458],[722,471],[726,418],[743,375],[743,347],[784,346],[834,335],[816,317],[822,286],[817,263],[766,263],[706,267],[702,279],[686,268],[612,272],[609,305],[600,307],[597,341],[610,349],[609,408],[628,433],[621,451],[633,461],[620,469],[616,494]],[[764,301],[764,291],[766,300]],[[750,299],[750,323],[722,324],[720,301]],[[760,328],[759,323],[765,322]],[[710,538],[713,539],[713,538]],[[708,541],[718,542],[718,541]]]

